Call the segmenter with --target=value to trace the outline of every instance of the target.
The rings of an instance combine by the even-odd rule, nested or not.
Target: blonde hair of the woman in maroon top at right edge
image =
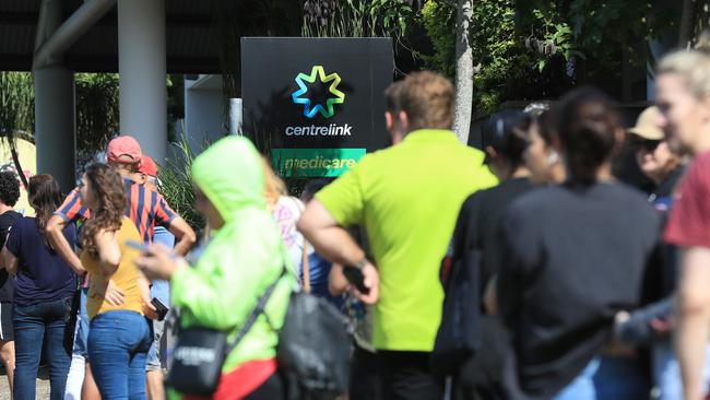
[[[658,74],[676,73],[697,97],[710,96],[710,55],[700,49],[674,51],[661,59]]]

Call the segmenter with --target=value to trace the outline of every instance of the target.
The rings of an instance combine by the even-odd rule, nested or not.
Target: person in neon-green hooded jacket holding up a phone
[[[269,303],[241,342],[226,356],[212,399],[280,399],[274,328],[283,325],[296,284],[273,216],[267,210],[264,170],[259,153],[244,138],[220,140],[192,164],[196,209],[212,230],[204,251],[190,266],[161,245],[150,246],[137,264],[150,279],[170,281],[181,327],[230,330],[248,318],[267,287],[281,279]],[[282,278],[279,278],[282,277]],[[175,393],[174,393],[175,395]],[[192,399],[192,398],[190,398]]]

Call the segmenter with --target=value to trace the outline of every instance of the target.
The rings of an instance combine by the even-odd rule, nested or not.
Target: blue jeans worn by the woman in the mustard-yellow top
[[[152,330],[150,321],[135,311],[106,311],[92,319],[88,358],[102,398],[145,399],[145,356]]]

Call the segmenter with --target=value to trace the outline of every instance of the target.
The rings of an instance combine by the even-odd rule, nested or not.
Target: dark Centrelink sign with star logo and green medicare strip
[[[339,176],[388,143],[389,38],[242,38],[244,131],[284,176]]]

